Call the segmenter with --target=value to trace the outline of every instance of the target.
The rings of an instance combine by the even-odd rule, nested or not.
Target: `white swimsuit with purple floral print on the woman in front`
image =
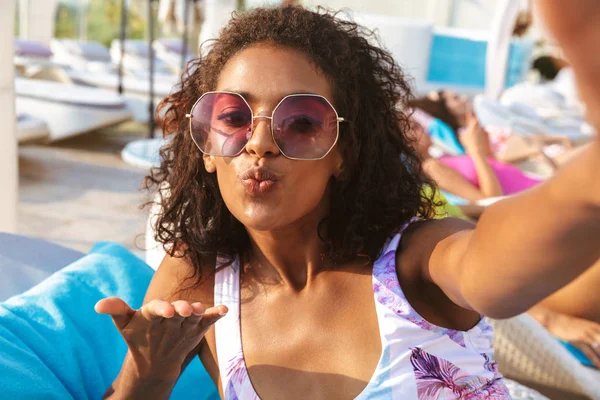
[[[371,380],[356,399],[507,399],[493,361],[492,327],[482,319],[468,331],[433,325],[409,304],[396,273],[402,233],[386,243],[373,266],[373,294],[382,354]],[[242,352],[240,273],[237,262],[215,277],[215,304],[229,308],[215,324],[217,358],[226,400],[255,400]]]

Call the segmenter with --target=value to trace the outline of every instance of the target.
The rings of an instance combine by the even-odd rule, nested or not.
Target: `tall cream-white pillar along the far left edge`
[[[0,9],[0,231],[16,232],[19,164],[12,63],[16,0],[0,0]]]

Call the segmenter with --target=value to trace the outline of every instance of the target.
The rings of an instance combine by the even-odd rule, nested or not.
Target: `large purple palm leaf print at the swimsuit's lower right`
[[[417,379],[419,399],[510,399],[501,378],[489,380],[461,371],[456,365],[419,348],[410,362]]]

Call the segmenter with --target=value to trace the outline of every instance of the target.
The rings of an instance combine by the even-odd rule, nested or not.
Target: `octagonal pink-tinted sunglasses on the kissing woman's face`
[[[253,133],[254,120],[271,120],[273,141],[292,160],[320,160],[337,143],[340,122],[331,103],[317,94],[290,94],[271,116],[254,115],[239,93],[207,92],[186,115],[194,143],[204,154],[234,157],[242,152]]]

